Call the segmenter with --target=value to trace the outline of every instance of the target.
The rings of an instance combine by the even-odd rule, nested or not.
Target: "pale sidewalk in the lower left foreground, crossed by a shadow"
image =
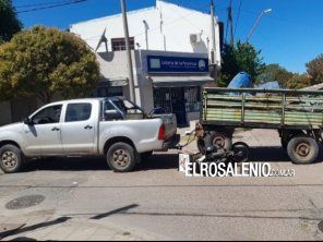
[[[84,218],[0,216],[1,241],[143,241],[156,238]]]

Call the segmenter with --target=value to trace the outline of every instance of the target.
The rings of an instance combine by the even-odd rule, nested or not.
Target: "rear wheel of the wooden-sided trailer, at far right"
[[[287,154],[295,164],[312,164],[318,158],[319,145],[310,136],[298,135],[288,142]]]

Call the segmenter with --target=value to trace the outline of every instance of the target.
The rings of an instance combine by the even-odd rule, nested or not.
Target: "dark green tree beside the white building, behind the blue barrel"
[[[249,73],[251,78],[255,80],[264,69],[260,53],[261,50],[255,50],[249,43],[238,41],[235,45],[225,45],[218,85],[227,86],[232,77],[242,71]]]

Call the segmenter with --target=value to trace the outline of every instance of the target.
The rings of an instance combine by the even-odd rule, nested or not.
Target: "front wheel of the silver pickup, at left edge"
[[[4,173],[19,172],[24,164],[22,150],[14,145],[3,145],[0,148],[0,168]]]

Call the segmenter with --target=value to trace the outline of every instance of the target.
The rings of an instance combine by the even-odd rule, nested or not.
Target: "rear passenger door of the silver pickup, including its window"
[[[61,141],[65,155],[94,154],[95,120],[91,102],[73,102],[67,106],[64,121],[61,123]]]

